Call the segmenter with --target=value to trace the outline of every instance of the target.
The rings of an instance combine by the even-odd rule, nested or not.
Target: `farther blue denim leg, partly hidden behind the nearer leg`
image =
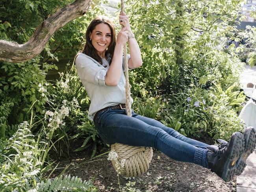
[[[169,135],[171,135],[171,136],[173,136],[173,137],[175,137],[179,140],[182,140],[186,143],[189,143],[193,146],[204,148],[204,149],[206,149],[206,147],[209,146],[208,144],[205,144],[203,142],[200,142],[200,141],[197,141],[197,140],[194,140],[194,139],[191,139],[191,138],[187,138],[184,135],[180,134],[178,131],[175,131],[173,128],[166,127],[164,124],[162,124],[161,122],[159,122],[155,119],[144,117],[144,116],[141,116],[141,115],[139,115],[137,113],[134,113],[134,112],[132,113],[132,116],[141,120],[141,121],[143,121],[143,122],[145,122],[148,125],[159,127],[161,129],[163,129],[165,132],[167,132]]]

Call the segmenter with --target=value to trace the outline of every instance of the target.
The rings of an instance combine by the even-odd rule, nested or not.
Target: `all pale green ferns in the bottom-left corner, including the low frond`
[[[53,181],[43,179],[44,154],[48,143],[34,139],[29,125],[24,122],[8,140],[0,142],[0,191],[97,191],[92,182],[78,177],[56,177]]]

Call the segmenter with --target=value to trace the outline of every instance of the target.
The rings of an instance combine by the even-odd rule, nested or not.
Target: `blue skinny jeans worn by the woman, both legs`
[[[153,147],[171,159],[208,168],[208,144],[187,138],[161,122],[134,111],[132,116],[127,116],[125,109],[108,109],[95,117],[94,124],[100,138],[107,144]]]

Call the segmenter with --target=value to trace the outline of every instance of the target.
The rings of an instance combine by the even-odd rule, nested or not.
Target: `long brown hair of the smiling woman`
[[[110,63],[111,63],[112,57],[113,57],[113,54],[114,54],[114,50],[115,50],[115,43],[116,43],[115,27],[113,25],[113,22],[111,22],[109,20],[109,18],[107,18],[107,17],[98,16],[98,17],[96,17],[95,19],[93,19],[91,21],[91,23],[89,24],[89,26],[86,30],[86,33],[85,33],[86,42],[85,42],[85,46],[82,50],[82,53],[92,57],[93,59],[98,61],[100,64],[102,64],[101,57],[97,54],[97,50],[94,48],[93,44],[90,41],[90,34],[93,32],[96,25],[101,24],[101,23],[104,23],[104,24],[108,25],[110,30],[111,30],[111,42],[110,42],[110,44],[109,44],[109,46],[106,50],[106,53],[105,53],[105,55],[110,54],[110,56],[111,56]]]

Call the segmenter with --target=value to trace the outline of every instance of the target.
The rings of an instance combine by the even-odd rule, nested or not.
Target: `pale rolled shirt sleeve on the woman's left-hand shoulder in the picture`
[[[100,86],[107,86],[105,76],[107,70],[103,66],[98,66],[91,59],[78,55],[75,60],[76,70],[81,81],[87,81]]]

